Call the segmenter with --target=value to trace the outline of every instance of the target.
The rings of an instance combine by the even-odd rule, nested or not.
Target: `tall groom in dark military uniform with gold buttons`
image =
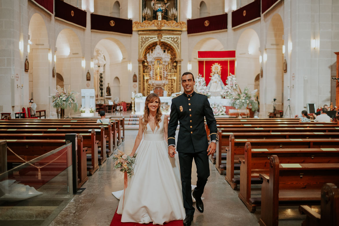
[[[184,93],[172,99],[171,119],[168,123],[168,154],[174,157],[175,151],[175,131],[178,120],[180,122],[177,150],[179,152],[182,196],[186,210],[184,226],[191,225],[194,214],[193,201],[191,196],[191,174],[192,162],[197,166],[197,187],[193,191],[196,200],[196,207],[199,212],[204,211],[204,204],[201,196],[204,187],[210,176],[210,166],[208,156],[213,154],[218,143],[217,122],[213,115],[213,110],[208,102],[207,96],[194,91],[194,76],[190,72],[185,72],[181,76],[181,85]],[[204,117],[210,128],[211,143],[208,145],[206,130],[204,127]]]

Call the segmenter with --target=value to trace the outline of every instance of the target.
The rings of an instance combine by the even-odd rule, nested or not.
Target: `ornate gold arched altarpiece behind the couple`
[[[163,89],[167,96],[181,90],[181,31],[139,31],[139,93],[147,96],[154,90],[157,81],[166,81]],[[154,52],[157,45],[170,57],[168,63],[154,59],[147,61],[147,54]]]

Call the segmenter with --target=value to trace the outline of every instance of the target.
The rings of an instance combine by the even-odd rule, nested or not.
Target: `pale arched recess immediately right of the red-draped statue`
[[[254,90],[254,79],[260,72],[260,41],[255,30],[248,28],[242,32],[236,48],[236,76],[241,89]]]

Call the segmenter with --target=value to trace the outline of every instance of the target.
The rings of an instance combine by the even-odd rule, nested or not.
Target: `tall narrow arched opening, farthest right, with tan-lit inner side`
[[[267,55],[267,61],[263,60],[265,76],[264,103],[265,114],[273,109],[273,98],[276,98],[277,110],[283,110],[283,35],[284,25],[279,14],[274,14],[267,29],[266,49],[263,54]],[[286,52],[287,52],[286,48]],[[266,57],[265,57],[266,58]]]

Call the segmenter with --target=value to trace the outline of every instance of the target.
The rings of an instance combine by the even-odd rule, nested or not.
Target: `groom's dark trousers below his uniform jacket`
[[[195,162],[197,166],[197,187],[194,189],[196,197],[201,197],[204,192],[204,187],[207,182],[207,178],[210,176],[210,166],[208,164],[207,151],[200,151],[197,153],[181,153],[179,152],[180,174],[181,174],[181,186],[182,196],[184,201],[184,208],[186,215],[194,214],[195,208],[192,201],[192,187],[191,187],[191,174],[192,174],[192,162]]]

